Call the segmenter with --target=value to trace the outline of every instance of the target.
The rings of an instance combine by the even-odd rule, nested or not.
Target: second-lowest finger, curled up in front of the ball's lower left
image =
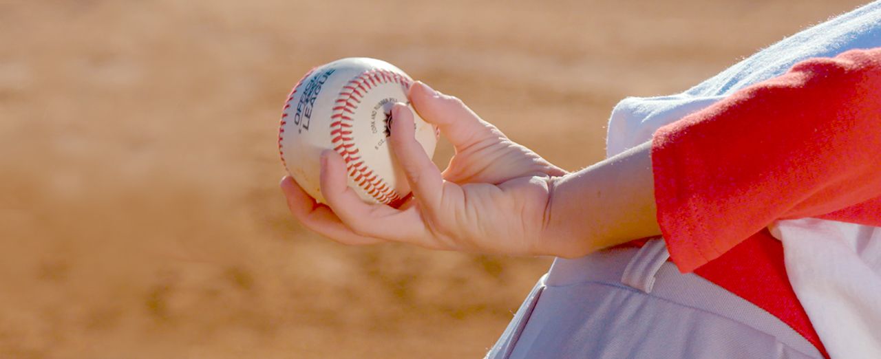
[[[425,153],[421,147],[419,150]],[[330,209],[355,234],[407,242],[425,235],[426,227],[417,209],[398,210],[362,201],[348,186],[345,163],[334,150],[322,152],[321,185]]]

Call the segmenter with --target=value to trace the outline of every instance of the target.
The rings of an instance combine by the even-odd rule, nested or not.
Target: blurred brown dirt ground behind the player
[[[577,170],[618,99],[860,2],[0,0],[0,358],[484,355],[550,259],[304,231],[276,131],[305,71],[392,62]]]

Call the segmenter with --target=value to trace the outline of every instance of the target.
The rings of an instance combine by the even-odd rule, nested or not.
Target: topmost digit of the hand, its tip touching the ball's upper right
[[[492,135],[492,125],[480,120],[460,99],[434,91],[417,81],[410,87],[413,108],[425,121],[441,128],[456,148],[470,146]]]

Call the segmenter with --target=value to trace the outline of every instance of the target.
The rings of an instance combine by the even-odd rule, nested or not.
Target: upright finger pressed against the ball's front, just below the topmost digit
[[[391,148],[398,165],[410,183],[413,195],[427,209],[436,209],[443,193],[443,177],[426,150],[416,141],[413,114],[410,107],[401,103],[391,108]]]

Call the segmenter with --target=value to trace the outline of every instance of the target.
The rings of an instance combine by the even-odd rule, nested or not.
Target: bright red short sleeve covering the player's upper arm
[[[658,129],[652,166],[683,272],[777,219],[881,225],[881,48],[800,62]]]

